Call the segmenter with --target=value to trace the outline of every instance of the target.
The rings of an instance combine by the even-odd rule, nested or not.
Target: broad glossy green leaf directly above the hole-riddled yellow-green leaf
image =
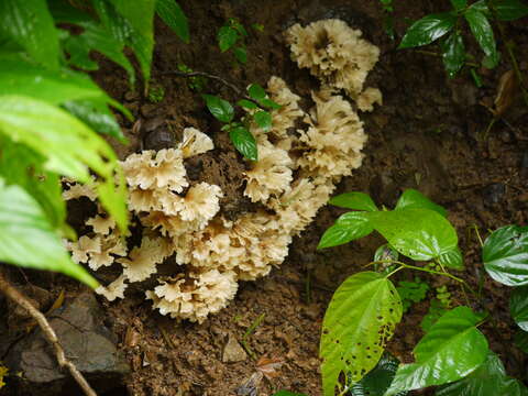
[[[458,243],[451,223],[429,209],[369,212],[372,227],[403,255],[428,261],[452,251]]]

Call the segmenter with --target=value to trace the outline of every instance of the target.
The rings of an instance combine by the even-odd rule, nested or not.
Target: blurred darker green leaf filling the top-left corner
[[[45,0],[0,1],[2,34],[21,45],[37,63],[50,69],[58,68],[58,33]]]

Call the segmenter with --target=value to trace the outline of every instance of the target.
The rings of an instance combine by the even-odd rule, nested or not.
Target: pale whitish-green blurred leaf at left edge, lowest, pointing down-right
[[[75,264],[38,204],[20,186],[0,178],[0,261],[28,268],[56,271],[97,287]]]

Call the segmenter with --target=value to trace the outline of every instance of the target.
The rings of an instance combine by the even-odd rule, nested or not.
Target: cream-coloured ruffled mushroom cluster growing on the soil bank
[[[343,25],[341,21],[332,22],[336,29]],[[308,40],[300,26],[292,28],[288,36],[293,31]],[[346,38],[342,32],[336,37]],[[319,69],[337,69],[355,62],[354,73],[363,76],[362,85],[377,59],[377,50],[363,42],[358,48],[360,54],[349,45],[346,51],[338,51],[339,65],[327,57]],[[355,59],[364,53],[375,54],[375,59],[358,63]],[[346,58],[352,55],[352,59]],[[122,266],[122,275],[96,292],[109,300],[123,298],[128,284],[147,279],[157,265],[175,255],[175,274],[158,276],[157,286],[146,290],[146,297],[162,315],[202,322],[234,297],[239,280],[254,280],[282,264],[293,237],[312,221],[336,184],[361,166],[363,158],[363,124],[352,105],[328,89],[327,77],[321,80],[321,89],[312,94],[314,107],[308,112],[299,107],[300,97],[283,79],[270,79],[267,95],[280,108],[272,111],[270,130],[250,124],[257,141],[258,161],[249,162],[244,174],[244,195],[256,204],[256,209],[235,220],[220,210],[220,187],[187,178],[185,160],[213,148],[205,133],[188,128],[177,147],[127,157],[122,166],[130,191],[129,209],[142,226],[141,244],[128,251],[116,224],[103,213],[86,222],[92,232],[69,244],[74,260],[92,270],[113,262]],[[342,88],[358,92],[359,82],[354,81]],[[68,187],[64,191],[66,199],[96,199],[92,188],[75,184]]]

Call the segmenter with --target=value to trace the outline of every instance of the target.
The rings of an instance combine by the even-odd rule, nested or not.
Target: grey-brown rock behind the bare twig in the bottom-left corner
[[[86,292],[48,316],[66,355],[97,393],[122,386],[130,372],[118,351],[117,338],[103,324],[103,312],[94,293]],[[16,342],[4,359],[16,376],[14,395],[80,395],[68,372],[62,371],[40,328]],[[76,391],[73,391],[76,389]]]

